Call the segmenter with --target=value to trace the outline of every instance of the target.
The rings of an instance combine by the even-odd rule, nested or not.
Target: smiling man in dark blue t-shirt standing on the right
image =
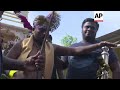
[[[79,43],[71,45],[71,47],[88,46],[98,43],[95,39],[99,29],[98,22],[92,18],[86,18],[82,23],[82,38]],[[97,70],[99,68],[98,57],[101,56],[101,48],[85,55],[63,57],[68,65],[67,79],[97,79]],[[116,55],[110,49],[109,65],[112,70],[113,78],[120,78],[120,66]]]

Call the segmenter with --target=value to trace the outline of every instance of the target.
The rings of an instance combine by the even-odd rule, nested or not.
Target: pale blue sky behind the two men
[[[47,16],[51,11],[29,11],[28,21],[33,25],[33,20],[38,15]],[[94,18],[94,11],[58,11],[61,16],[60,26],[51,33],[53,43],[62,45],[64,36],[71,35],[82,40],[81,25],[86,18]],[[99,22],[99,30],[96,37],[108,34],[120,29],[120,11],[104,11],[103,22]]]

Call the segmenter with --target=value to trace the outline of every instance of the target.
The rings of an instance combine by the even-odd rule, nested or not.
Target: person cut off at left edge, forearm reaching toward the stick
[[[3,15],[4,11],[0,11],[0,18],[2,19],[2,15]],[[1,21],[1,20],[0,20]],[[0,47],[2,46],[3,43],[3,35],[1,33],[1,22],[0,22]],[[15,70],[21,70],[21,71],[35,71],[36,67],[35,67],[35,63],[38,63],[39,60],[36,61],[36,57],[38,54],[30,57],[29,59],[27,59],[26,61],[16,61],[15,59],[11,59],[8,58],[4,55],[2,55],[2,53],[0,53],[0,69],[1,69],[1,74],[3,73],[4,70],[9,70],[9,69],[15,69]],[[40,56],[40,58],[42,59],[43,57]],[[34,60],[33,60],[34,59]],[[1,76],[0,76],[1,78]]]

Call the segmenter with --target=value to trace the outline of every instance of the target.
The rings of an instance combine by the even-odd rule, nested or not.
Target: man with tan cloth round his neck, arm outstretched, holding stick
[[[25,23],[25,22],[24,22]],[[41,49],[43,39],[45,37],[45,32],[47,30],[48,21],[45,16],[39,15],[35,18],[33,22],[33,35],[30,38],[26,38],[18,43],[16,43],[13,48],[9,51],[7,56],[9,58],[26,60],[30,56],[35,55]],[[84,53],[89,53],[96,48],[101,48],[102,46],[116,47],[115,44],[109,42],[100,42],[88,46],[80,46],[75,48],[63,47],[55,44],[51,44],[48,40],[46,41],[44,53],[42,55],[45,57],[43,61],[39,63],[41,65],[41,75],[43,79],[51,79],[53,66],[54,66],[54,55],[55,56],[71,56],[71,55],[81,55]],[[17,51],[16,51],[17,50]],[[39,56],[38,56],[39,59]],[[37,60],[36,60],[37,61]],[[38,63],[36,63],[38,64]],[[24,73],[24,75],[23,75]],[[17,79],[37,79],[36,72],[21,72],[17,71],[14,78]]]

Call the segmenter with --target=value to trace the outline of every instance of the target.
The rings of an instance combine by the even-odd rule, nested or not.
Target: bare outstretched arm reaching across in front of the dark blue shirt
[[[79,47],[63,47],[54,44],[55,54],[58,56],[76,56],[81,54],[88,54],[91,51],[94,51],[103,46],[116,47],[116,44],[102,41],[100,43],[88,45],[88,46],[79,46]]]

